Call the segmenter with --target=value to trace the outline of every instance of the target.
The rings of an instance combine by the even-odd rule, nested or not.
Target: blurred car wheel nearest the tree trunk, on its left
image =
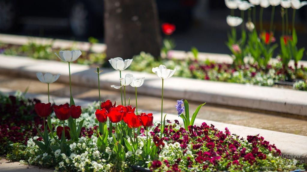
[[[89,10],[83,2],[76,2],[73,4],[70,11],[69,23],[75,36],[87,35],[89,31],[88,16]]]

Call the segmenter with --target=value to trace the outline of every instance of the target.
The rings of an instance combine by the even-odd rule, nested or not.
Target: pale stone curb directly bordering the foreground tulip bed
[[[14,91],[3,88],[0,88],[0,92],[6,94],[14,94]],[[48,101],[47,95],[27,93],[25,97],[38,98],[42,102]],[[51,99],[54,100],[57,104],[64,104],[69,102],[69,98],[56,97],[52,95]],[[80,105],[81,107],[87,107],[89,103],[92,103],[90,101],[84,101],[81,99],[74,99],[74,100],[76,105]],[[161,112],[152,112],[146,110],[143,111],[146,113],[153,113],[154,121],[160,122]],[[178,120],[180,123],[182,123],[182,119],[175,114],[167,114],[165,119],[168,119],[170,121]],[[206,119],[199,119],[199,118],[195,119],[194,125],[201,125],[203,122],[206,122],[207,125],[213,124],[215,128],[221,131],[224,131],[224,129],[227,127],[232,134],[235,133],[238,136],[243,137],[245,139],[248,135],[254,136],[259,134],[259,136],[262,136],[264,137],[265,140],[269,141],[270,144],[275,144],[276,147],[281,150],[283,157],[286,157],[288,159],[293,159],[290,157],[296,156],[297,160],[304,160],[305,163],[307,162],[307,147],[306,147],[307,136],[282,133],[265,129],[257,129],[240,125],[226,124],[222,122],[209,121]]]

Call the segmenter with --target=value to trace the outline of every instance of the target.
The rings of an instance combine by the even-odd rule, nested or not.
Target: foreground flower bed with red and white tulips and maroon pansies
[[[70,62],[80,55],[79,50],[73,50],[60,51],[58,56],[68,62],[70,71]],[[121,71],[128,68],[132,61],[115,58],[109,62],[121,75]],[[103,71],[97,68],[95,72],[99,76]],[[176,73],[176,69],[160,65],[152,68],[152,72],[162,81],[163,112],[163,83]],[[37,73],[37,77],[49,89],[60,75]],[[192,111],[189,110],[188,101],[178,100],[174,108],[183,125],[178,120],[170,122],[163,113],[161,122],[154,123],[153,114],[137,110],[137,88],[144,81],[145,78],[137,79],[131,74],[120,77],[120,86],[111,87],[120,89],[124,86],[124,89],[120,89],[121,103],[110,100],[101,102],[99,98],[99,103],[82,109],[75,105],[72,95],[69,104],[52,105],[50,101],[41,103],[29,100],[30,103],[24,103],[24,106],[14,103],[12,97],[1,95],[1,100],[8,104],[1,107],[2,111],[8,116],[11,106],[16,106],[17,115],[24,111],[31,112],[28,120],[32,122],[33,131],[37,132],[32,132],[30,136],[21,134],[20,141],[14,144],[7,141],[3,147],[6,158],[56,171],[133,171],[135,165],[152,171],[290,171],[304,168],[300,162],[284,159],[274,144],[259,135],[244,139],[231,134],[227,128],[220,131],[205,122],[200,126],[194,125],[198,111],[205,103],[190,115]],[[129,99],[126,101],[125,87],[129,85],[135,88],[136,107],[130,105]],[[71,85],[70,88],[72,93]],[[16,99],[24,101],[18,96]],[[34,111],[37,116],[33,115]],[[39,118],[40,123],[34,123],[33,118]],[[29,124],[21,123],[19,127],[24,129],[27,126]],[[10,130],[6,127],[1,134]],[[286,161],[288,163],[283,163]]]

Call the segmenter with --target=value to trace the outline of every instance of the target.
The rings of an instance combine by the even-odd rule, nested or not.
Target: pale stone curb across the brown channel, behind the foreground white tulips
[[[61,73],[58,82],[69,83],[68,63],[65,62],[6,55],[0,55],[0,61],[0,72],[3,74],[36,78],[37,72]],[[72,84],[97,88],[95,70],[87,65],[71,64]],[[110,85],[119,85],[119,72],[114,69],[103,70],[100,74],[100,88],[114,89]],[[155,74],[124,70],[122,77],[126,73],[132,73],[137,78],[145,77],[138,93],[161,96],[161,79]],[[135,90],[128,86],[126,91]],[[164,96],[307,116],[307,92],[291,89],[171,77],[164,82]]]

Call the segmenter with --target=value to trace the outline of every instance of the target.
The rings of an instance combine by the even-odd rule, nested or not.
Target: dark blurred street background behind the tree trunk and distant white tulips
[[[156,0],[156,3],[160,24],[169,22],[176,25],[171,36],[176,41],[176,50],[188,51],[196,47],[201,52],[230,53],[225,45],[230,31],[226,23],[230,9],[224,0]],[[257,6],[257,21],[259,10]],[[292,9],[288,12],[291,23]],[[77,41],[87,41],[89,36],[93,36],[104,43],[103,13],[103,0],[0,0],[0,32]],[[263,21],[267,30],[270,15],[271,8],[264,9]],[[235,16],[241,16],[239,10],[235,10]],[[274,17],[277,41],[281,35],[281,23],[278,6]],[[307,6],[297,10],[295,24],[297,47],[307,48]],[[238,32],[240,28],[237,27]],[[303,59],[307,59],[306,54]]]

